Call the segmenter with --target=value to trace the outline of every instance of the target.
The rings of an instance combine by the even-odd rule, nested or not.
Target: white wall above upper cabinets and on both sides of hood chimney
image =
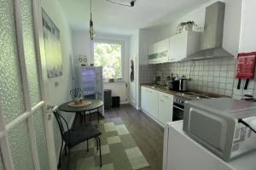
[[[152,28],[155,36],[154,42],[158,42],[167,37],[176,34],[177,26],[179,23],[194,20],[195,23],[201,28],[195,31],[203,31],[205,26],[205,15],[207,6],[216,3],[218,0],[212,0],[203,4],[201,7],[196,8],[189,14],[185,14],[180,19],[172,22],[168,26],[160,26]],[[225,3],[225,18],[224,18],[224,39],[223,47],[236,56],[239,48],[240,27],[241,27],[241,0],[221,0]],[[152,35],[151,35],[152,36]]]

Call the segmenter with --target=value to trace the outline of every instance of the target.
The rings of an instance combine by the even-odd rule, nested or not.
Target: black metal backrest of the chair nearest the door
[[[65,133],[66,131],[65,131],[65,128],[63,126],[63,122],[64,122],[65,123],[64,125],[67,127],[67,131],[69,130],[66,119],[63,116],[61,116],[61,114],[58,110],[53,111],[53,114],[55,115],[55,119],[56,119],[56,121],[58,123],[58,126],[60,128],[61,138],[64,141],[67,141],[67,139],[68,139],[68,141],[70,141],[70,137],[69,137],[68,133]]]

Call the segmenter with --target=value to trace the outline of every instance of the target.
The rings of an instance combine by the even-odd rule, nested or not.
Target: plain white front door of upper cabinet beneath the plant
[[[179,61],[187,56],[188,32],[170,38],[169,61]]]

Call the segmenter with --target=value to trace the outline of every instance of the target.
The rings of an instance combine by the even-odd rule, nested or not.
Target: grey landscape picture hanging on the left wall
[[[44,8],[42,8],[42,15],[47,75],[49,78],[61,77],[63,68],[60,30],[46,14]]]

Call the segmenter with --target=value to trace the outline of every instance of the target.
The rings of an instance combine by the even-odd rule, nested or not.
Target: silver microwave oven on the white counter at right
[[[183,131],[224,161],[256,149],[256,103],[218,98],[186,101]]]

